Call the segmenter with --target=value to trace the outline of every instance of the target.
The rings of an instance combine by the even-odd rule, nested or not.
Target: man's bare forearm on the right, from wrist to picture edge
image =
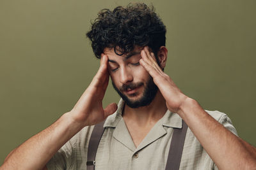
[[[256,149],[232,134],[193,99],[178,112],[219,169],[256,169]]]

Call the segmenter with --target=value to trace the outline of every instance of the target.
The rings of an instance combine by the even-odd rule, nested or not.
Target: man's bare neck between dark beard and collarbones
[[[156,97],[148,106],[130,108],[125,104],[122,117],[125,122],[132,121],[133,124],[145,126],[156,124],[156,122],[164,116],[166,111],[166,101],[158,90]]]

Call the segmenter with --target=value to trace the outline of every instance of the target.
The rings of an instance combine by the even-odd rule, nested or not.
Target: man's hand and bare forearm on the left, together
[[[117,109],[115,103],[102,108],[108,80],[108,56],[102,55],[99,71],[74,108],[13,150],[0,169],[46,169],[45,164],[54,153],[83,127],[102,122],[113,114]]]

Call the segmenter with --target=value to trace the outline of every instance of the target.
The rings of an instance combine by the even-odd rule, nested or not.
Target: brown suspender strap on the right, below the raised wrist
[[[165,167],[166,170],[179,169],[187,129],[188,125],[184,122],[184,120],[182,120],[182,128],[175,128],[173,130],[169,155]]]

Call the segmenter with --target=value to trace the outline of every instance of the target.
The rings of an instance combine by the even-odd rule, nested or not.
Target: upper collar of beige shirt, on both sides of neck
[[[103,127],[116,127],[116,125],[120,121],[120,118],[122,117],[124,104],[124,100],[120,99],[116,112],[106,119]],[[161,118],[159,121],[161,121],[162,125],[165,127],[173,127],[179,129],[182,128],[182,118],[180,118],[177,113],[172,113],[172,111],[169,110],[166,111],[163,118]]]

